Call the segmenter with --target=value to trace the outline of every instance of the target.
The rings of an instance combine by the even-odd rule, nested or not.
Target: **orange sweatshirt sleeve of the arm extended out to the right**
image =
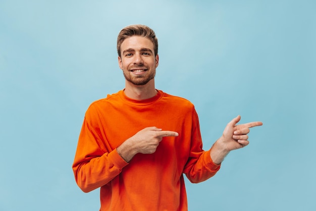
[[[190,182],[199,183],[213,177],[220,170],[220,167],[221,165],[215,164],[210,157],[210,150],[202,150],[198,116],[193,109],[191,148],[184,173]]]

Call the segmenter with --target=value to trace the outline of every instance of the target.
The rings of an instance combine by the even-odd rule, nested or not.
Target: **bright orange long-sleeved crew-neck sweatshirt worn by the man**
[[[179,136],[164,137],[153,154],[138,153],[125,162],[116,148],[148,126]],[[104,211],[187,210],[183,174],[198,183],[220,169],[209,151],[202,150],[193,104],[162,91],[142,101],[119,91],[93,102],[85,114],[72,167],[82,191],[100,187]]]

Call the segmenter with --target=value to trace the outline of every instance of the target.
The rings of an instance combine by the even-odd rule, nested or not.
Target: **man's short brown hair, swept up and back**
[[[126,26],[120,31],[118,35],[118,42],[117,42],[117,50],[118,50],[119,57],[121,57],[121,45],[123,41],[126,38],[134,36],[134,35],[149,38],[153,44],[154,56],[158,54],[158,39],[154,31],[148,26],[137,24],[137,25]]]

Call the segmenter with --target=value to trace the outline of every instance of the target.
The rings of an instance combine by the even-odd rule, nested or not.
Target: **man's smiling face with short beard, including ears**
[[[128,37],[121,45],[121,52],[119,66],[127,81],[141,86],[154,78],[159,56],[154,56],[150,39],[141,36]]]

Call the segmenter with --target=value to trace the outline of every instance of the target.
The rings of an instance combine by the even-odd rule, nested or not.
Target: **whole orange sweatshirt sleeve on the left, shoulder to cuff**
[[[109,148],[87,119],[86,113],[72,165],[76,183],[83,192],[106,185],[128,165],[116,149]]]

